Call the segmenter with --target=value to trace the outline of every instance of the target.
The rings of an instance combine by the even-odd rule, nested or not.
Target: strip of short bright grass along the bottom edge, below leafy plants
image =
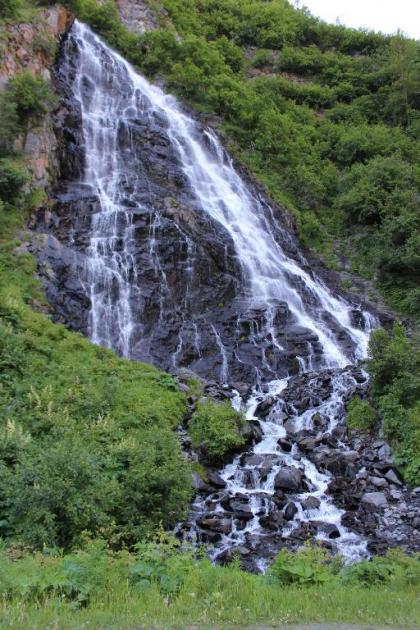
[[[121,589],[109,593],[82,610],[75,611],[60,600],[47,600],[41,605],[22,602],[1,608],[0,628],[87,629],[87,628],[235,628],[266,624],[282,628],[294,623],[351,622],[390,628],[418,628],[420,607],[414,590],[395,593],[388,589],[299,590],[255,585],[243,588],[235,581],[226,593],[214,591],[197,601],[192,594],[183,594],[173,603],[153,590],[135,595]],[[239,592],[239,589],[241,592]],[[417,596],[417,601],[416,601]]]

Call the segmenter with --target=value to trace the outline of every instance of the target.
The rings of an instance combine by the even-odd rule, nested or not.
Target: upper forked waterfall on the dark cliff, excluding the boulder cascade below
[[[334,297],[320,279],[311,277],[285,254],[263,203],[236,172],[216,135],[209,129],[203,131],[175,98],[137,74],[87,26],[76,20],[71,36],[79,54],[73,90],[82,113],[85,183],[100,201],[89,251],[92,340],[130,355],[131,333],[139,313],[133,313],[130,305],[136,267],[126,160],[118,136],[129,131],[136,118],[159,116],[199,209],[228,233],[234,245],[250,307],[264,305],[269,320],[276,305],[286,303],[296,324],[316,335],[325,366],[344,367],[354,357],[363,357],[368,331],[352,324],[353,307]],[[135,190],[139,175],[130,172],[129,177]],[[136,203],[135,194],[132,197]],[[331,322],[350,337],[353,356],[342,348]]]

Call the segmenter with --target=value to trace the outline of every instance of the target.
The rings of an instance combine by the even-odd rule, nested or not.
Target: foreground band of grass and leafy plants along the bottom
[[[1,564],[0,625],[16,629],[278,628],[317,621],[414,628],[420,614],[419,561],[402,555],[341,569],[320,550],[283,552],[270,575],[257,576],[237,562],[212,566],[167,540],[132,554],[86,541],[66,556],[10,549]]]

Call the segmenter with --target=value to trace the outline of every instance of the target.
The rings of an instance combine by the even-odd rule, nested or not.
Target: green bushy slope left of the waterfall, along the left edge
[[[40,199],[23,188],[29,173],[13,146],[54,98],[29,73],[0,98],[0,535],[36,548],[69,548],[83,532],[132,545],[188,507],[174,433],[185,395],[170,376],[33,310],[46,305],[15,234]]]

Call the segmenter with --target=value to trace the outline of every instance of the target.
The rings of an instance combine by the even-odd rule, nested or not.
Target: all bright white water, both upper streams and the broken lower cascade
[[[342,368],[366,356],[373,320],[368,314],[363,314],[365,330],[355,327],[351,319],[354,307],[333,296],[320,279],[311,276],[296,260],[286,255],[273,235],[265,207],[237,173],[216,135],[209,129],[203,131],[196,121],[182,111],[174,97],[137,74],[88,27],[76,21],[71,34],[77,42],[79,54],[74,96],[80,103],[82,114],[85,183],[92,187],[100,203],[100,211],[93,215],[88,251],[92,340],[130,356],[132,331],[139,323],[139,314],[132,312],[130,297],[133,291],[141,291],[141,288],[135,287],[137,272],[133,256],[135,243],[131,214],[121,202],[121,181],[127,174],[118,159],[117,134],[132,119],[147,117],[153,112],[166,121],[167,135],[177,150],[199,211],[210,215],[220,225],[220,229],[228,233],[240,262],[246,298],[251,306],[264,307],[267,329],[271,332],[273,343],[280,347],[272,331],[275,308],[279,303],[286,303],[296,324],[316,334],[322,346],[322,365],[318,367]],[[159,216],[156,216],[151,230],[150,255],[153,259],[156,258],[154,230],[159,220]],[[155,272],[161,278],[164,299],[168,289],[158,258]],[[335,322],[336,325],[331,327],[328,322]],[[200,331],[195,323],[193,326],[195,343],[200,353]],[[332,328],[344,330],[350,338],[353,346],[351,355],[343,349]],[[219,332],[214,326],[212,329],[222,359],[220,380],[227,382],[228,357]],[[182,344],[180,334],[173,357],[174,367]],[[311,348],[306,359],[297,359],[301,371],[312,369]],[[334,428],[340,413],[343,413],[342,392],[348,386],[344,381],[345,376],[336,377],[333,395],[321,410],[329,419],[327,433]],[[286,380],[274,380],[269,386],[269,393],[279,394],[286,383]],[[253,417],[257,401],[261,398],[261,393],[255,391],[247,406],[249,418]],[[236,404],[239,404],[238,400]],[[310,427],[315,411],[319,410],[310,409],[300,416],[297,414],[293,418],[296,428]],[[298,514],[290,528],[298,521],[311,519],[335,523],[341,534],[338,543],[340,551],[349,558],[363,555],[363,541],[340,525],[342,512],[334,507],[325,494],[329,476],[318,472],[303,456],[297,462],[293,457],[296,447],[291,454],[281,452],[277,440],[285,434],[285,429],[275,416],[261,422],[261,426],[264,438],[254,452],[276,455],[276,465],[267,480],[258,482],[257,487],[250,490],[242,483],[244,467],[237,458],[222,472],[228,484],[227,491],[232,495],[237,492],[250,495],[250,505],[256,513],[265,501],[261,499],[261,492],[266,497],[273,493],[274,476],[279,467],[283,464],[299,465],[312,483],[313,489],[309,494],[319,498],[321,506],[318,510],[305,513],[300,503],[296,502]],[[304,496],[301,495],[299,499]],[[196,511],[204,509],[200,501],[197,499]],[[241,531],[237,531],[234,526],[232,533],[224,537],[221,548],[238,545],[246,533],[263,535],[257,516]],[[322,534],[319,536],[322,537]]]

